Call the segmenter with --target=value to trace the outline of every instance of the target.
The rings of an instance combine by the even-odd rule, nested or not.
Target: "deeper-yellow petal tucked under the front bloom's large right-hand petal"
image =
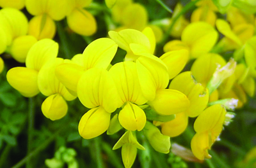
[[[179,136],[188,126],[188,116],[186,113],[179,113],[174,120],[161,124],[161,132],[164,136]]]

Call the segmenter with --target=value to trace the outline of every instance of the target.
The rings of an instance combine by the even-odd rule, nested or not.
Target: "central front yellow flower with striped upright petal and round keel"
[[[146,115],[137,105],[145,104],[134,62],[120,62],[109,70],[124,107],[118,115],[122,127],[127,130],[142,130],[146,124]]]

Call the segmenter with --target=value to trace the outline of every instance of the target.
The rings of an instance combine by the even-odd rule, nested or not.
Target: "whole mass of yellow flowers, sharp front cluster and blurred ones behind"
[[[54,20],[67,17],[72,31],[90,36],[97,30],[95,18],[84,10],[90,3],[27,0],[14,5],[0,1],[4,7],[0,10],[0,52],[26,64],[8,71],[10,85],[25,97],[45,95],[42,113],[50,120],[63,118],[68,111],[66,101],[77,97],[89,109],[78,125],[84,139],[125,130],[113,146],[113,150],[122,148],[125,167],[132,166],[137,149],[145,150],[137,140],[138,132],[143,132],[154,150],[169,153],[170,137],[182,134],[189,118],[196,118],[193,155],[199,160],[211,158],[208,150],[220,139],[223,125],[234,117],[230,111],[243,107],[247,95],[255,94],[255,16],[201,1],[189,24],[183,16],[173,20],[182,10],[177,4],[173,18],[161,21],[161,30],[148,24],[141,4],[106,1],[120,27],[109,31],[107,38],[95,39],[72,59],[57,57]],[[17,10],[24,6],[34,16],[29,22]],[[218,9],[227,12],[230,24],[217,18]],[[138,17],[134,19],[131,13]],[[163,55],[155,55],[156,42],[161,41],[158,35],[173,22],[175,31],[170,35],[179,39],[168,41]],[[223,38],[218,40],[220,34]],[[120,56],[117,50],[126,52],[124,61],[111,64]],[[221,53],[230,51],[234,55],[225,60]],[[182,71],[188,64],[191,68]],[[0,59],[0,71],[2,65]]]

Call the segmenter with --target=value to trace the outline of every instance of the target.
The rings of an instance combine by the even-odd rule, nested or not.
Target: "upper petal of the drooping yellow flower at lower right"
[[[220,104],[214,104],[205,109],[194,123],[196,132],[212,131],[221,132],[225,120],[226,109]],[[216,137],[217,138],[217,137]]]

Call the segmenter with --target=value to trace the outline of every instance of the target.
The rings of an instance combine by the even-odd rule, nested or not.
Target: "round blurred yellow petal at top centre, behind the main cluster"
[[[142,31],[148,22],[147,10],[139,3],[132,3],[124,9],[121,22],[129,29]]]

